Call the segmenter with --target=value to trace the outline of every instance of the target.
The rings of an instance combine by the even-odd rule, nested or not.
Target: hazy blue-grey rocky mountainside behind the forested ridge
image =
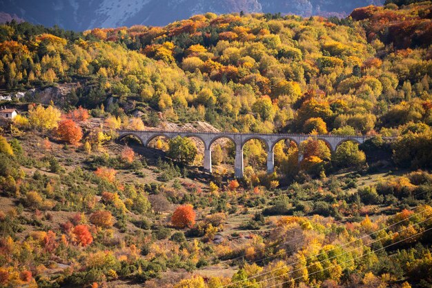
[[[0,11],[32,23],[70,30],[122,25],[166,25],[205,12],[281,12],[346,16],[384,0],[3,0]]]

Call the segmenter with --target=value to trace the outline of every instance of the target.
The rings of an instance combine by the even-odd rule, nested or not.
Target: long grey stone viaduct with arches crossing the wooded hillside
[[[300,143],[306,141],[311,135],[306,134],[256,134],[256,133],[229,133],[229,132],[168,132],[168,131],[131,131],[131,130],[119,130],[119,139],[126,136],[135,136],[145,146],[150,143],[153,138],[158,136],[164,136],[166,138],[174,138],[176,136],[181,137],[194,137],[198,138],[204,144],[204,169],[207,172],[212,172],[211,168],[211,150],[210,147],[219,138],[228,138],[235,144],[235,177],[243,177],[243,147],[244,144],[251,139],[260,139],[266,144],[267,150],[267,172],[273,172],[275,168],[275,160],[273,154],[273,148],[275,144],[281,140],[291,140],[298,147]],[[332,151],[335,151],[337,147],[344,141],[355,141],[359,144],[364,143],[366,139],[371,138],[370,136],[333,136],[333,135],[316,135],[317,139],[320,139],[327,143],[328,147]],[[299,160],[302,160],[302,156],[299,155]]]

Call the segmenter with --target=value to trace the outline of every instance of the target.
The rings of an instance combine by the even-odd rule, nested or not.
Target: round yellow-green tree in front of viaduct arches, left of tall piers
[[[168,146],[168,157],[183,165],[192,163],[197,156],[197,147],[190,138],[177,136],[170,139]]]

